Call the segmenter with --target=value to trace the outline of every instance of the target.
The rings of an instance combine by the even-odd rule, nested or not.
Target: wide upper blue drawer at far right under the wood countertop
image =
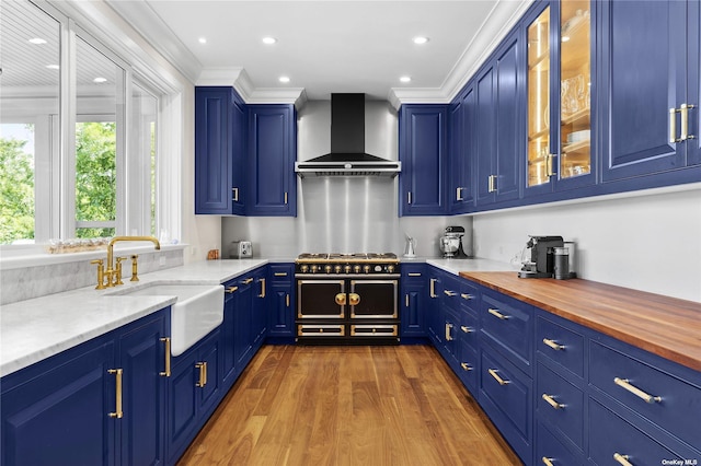
[[[701,387],[599,341],[591,341],[589,351],[591,385],[688,444],[701,446]],[[621,380],[628,385],[621,386]]]

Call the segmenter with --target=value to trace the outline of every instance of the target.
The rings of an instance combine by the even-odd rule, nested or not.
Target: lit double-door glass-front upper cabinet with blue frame
[[[531,14],[527,196],[594,183],[591,3],[553,1]]]

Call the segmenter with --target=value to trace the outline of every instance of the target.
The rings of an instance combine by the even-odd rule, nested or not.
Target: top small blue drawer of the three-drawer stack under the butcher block
[[[554,322],[536,318],[536,351],[584,377],[584,336]]]

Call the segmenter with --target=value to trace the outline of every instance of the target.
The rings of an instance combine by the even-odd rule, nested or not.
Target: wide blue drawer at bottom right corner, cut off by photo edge
[[[680,465],[685,464],[677,454],[591,399],[589,457],[598,465],[625,464],[617,462],[614,455],[635,466],[677,464],[673,463],[675,459],[681,461]]]

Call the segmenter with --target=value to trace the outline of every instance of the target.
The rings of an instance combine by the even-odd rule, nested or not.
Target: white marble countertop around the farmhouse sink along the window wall
[[[218,284],[267,264],[267,259],[207,260],[139,276],[107,290],[94,287],[0,307],[0,376],[147,316],[175,302],[169,296],[111,293],[150,282]]]

